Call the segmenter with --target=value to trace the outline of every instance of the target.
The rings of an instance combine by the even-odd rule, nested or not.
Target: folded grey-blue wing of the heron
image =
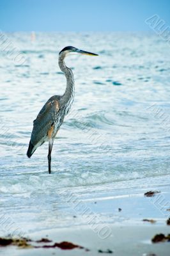
[[[33,122],[33,131],[31,134],[31,143],[36,145],[37,143],[44,142],[45,138],[58,118],[59,113],[59,100],[56,97],[51,97],[40,110],[40,113]]]

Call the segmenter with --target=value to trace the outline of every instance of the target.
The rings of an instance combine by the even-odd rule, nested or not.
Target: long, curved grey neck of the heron
[[[71,103],[71,100],[73,101],[74,79],[73,79],[73,72],[70,68],[66,67],[64,59],[65,59],[65,56],[59,56],[58,63],[59,63],[59,68],[61,69],[61,71],[63,71],[66,77],[66,90],[61,98],[61,103],[67,104],[68,102]]]

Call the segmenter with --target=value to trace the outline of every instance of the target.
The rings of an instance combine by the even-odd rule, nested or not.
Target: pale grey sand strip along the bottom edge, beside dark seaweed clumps
[[[61,250],[60,248],[27,248],[19,249],[15,246],[0,248],[2,255],[102,255],[115,256],[169,256],[169,242],[151,243],[155,234],[169,234],[166,225],[111,225],[112,234],[107,239],[100,237],[88,227],[54,228],[30,234],[31,239],[46,237],[53,242],[68,241],[84,248]],[[112,252],[112,253],[111,253]],[[152,253],[152,254],[151,254]],[[154,254],[155,253],[155,254]]]

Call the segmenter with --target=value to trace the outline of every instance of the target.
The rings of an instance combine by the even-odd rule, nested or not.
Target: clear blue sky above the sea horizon
[[[154,14],[170,26],[170,0],[0,0],[0,29],[146,31]]]

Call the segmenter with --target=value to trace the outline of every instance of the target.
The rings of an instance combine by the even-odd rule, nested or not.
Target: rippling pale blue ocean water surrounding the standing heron
[[[77,225],[83,220],[73,218],[79,212],[66,191],[95,202],[169,186],[167,42],[153,33],[37,33],[33,42],[30,33],[7,36],[26,61],[0,52],[1,220],[8,216],[23,232]],[[26,151],[43,104],[65,92],[58,53],[66,45],[99,56],[66,59],[75,100],[54,141],[49,175],[48,143],[31,159]],[[107,206],[98,209],[103,219],[111,214]]]

